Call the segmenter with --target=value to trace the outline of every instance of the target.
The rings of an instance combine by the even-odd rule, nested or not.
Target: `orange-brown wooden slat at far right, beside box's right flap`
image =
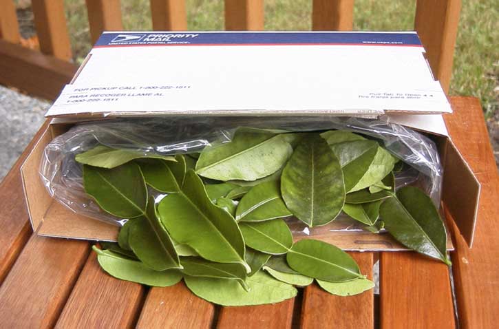
[[[460,328],[498,328],[499,176],[477,98],[451,97],[445,124],[482,185],[473,247],[454,229],[452,253]]]

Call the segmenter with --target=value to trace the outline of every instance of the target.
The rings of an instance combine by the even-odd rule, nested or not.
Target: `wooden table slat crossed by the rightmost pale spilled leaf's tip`
[[[361,272],[372,279],[373,254],[350,253]],[[316,283],[305,288],[301,306],[301,328],[373,328],[374,292],[340,297],[322,290]]]

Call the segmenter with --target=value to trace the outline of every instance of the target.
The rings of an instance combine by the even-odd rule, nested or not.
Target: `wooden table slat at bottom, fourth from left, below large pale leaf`
[[[182,281],[149,290],[137,328],[211,328],[214,315],[215,306],[191,293]]]

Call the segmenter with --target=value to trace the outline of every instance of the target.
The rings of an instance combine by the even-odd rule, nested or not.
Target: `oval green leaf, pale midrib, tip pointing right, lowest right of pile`
[[[330,282],[363,277],[357,263],[340,248],[318,240],[301,240],[286,255],[288,264],[298,273]]]

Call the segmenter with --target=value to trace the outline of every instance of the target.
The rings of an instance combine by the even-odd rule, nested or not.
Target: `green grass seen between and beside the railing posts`
[[[356,0],[354,30],[412,30],[415,0]],[[149,0],[122,0],[125,30],[151,30]],[[85,0],[65,0],[74,59],[90,50]],[[266,30],[310,30],[312,0],[265,0]],[[463,0],[449,94],[499,109],[499,0]],[[223,30],[223,0],[187,0],[189,30]],[[496,90],[495,90],[496,89]]]

